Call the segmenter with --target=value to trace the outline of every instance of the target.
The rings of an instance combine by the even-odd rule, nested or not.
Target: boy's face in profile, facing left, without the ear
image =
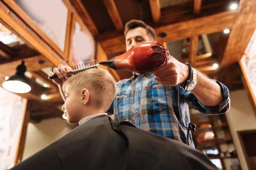
[[[76,124],[81,119],[81,111],[84,106],[81,100],[81,94],[77,94],[67,85],[65,97],[66,102],[62,105],[62,109],[64,109],[65,116],[67,116],[67,122]]]

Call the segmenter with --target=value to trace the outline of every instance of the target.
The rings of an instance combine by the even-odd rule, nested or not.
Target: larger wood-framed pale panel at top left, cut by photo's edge
[[[61,57],[67,59],[71,12],[63,0],[9,0],[7,3]]]

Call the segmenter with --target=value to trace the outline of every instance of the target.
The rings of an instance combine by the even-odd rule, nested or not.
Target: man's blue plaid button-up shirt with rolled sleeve
[[[186,143],[187,130],[181,125],[177,105],[177,85],[160,85],[154,78],[151,74],[140,74],[116,82],[116,97],[112,104],[114,120],[128,121],[137,128]],[[186,126],[190,121],[189,106],[207,115],[229,110],[229,90],[217,83],[221,87],[223,102],[214,107],[204,105],[194,94],[180,88],[180,109]],[[191,133],[189,138],[194,146]]]

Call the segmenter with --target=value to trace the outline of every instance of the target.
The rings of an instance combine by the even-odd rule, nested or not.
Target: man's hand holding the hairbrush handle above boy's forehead
[[[58,65],[58,68],[53,68],[53,71],[49,71],[49,76],[54,76],[54,74],[58,75],[59,79],[52,79],[58,85],[62,85],[69,77],[67,73],[72,71],[70,66],[67,65]]]

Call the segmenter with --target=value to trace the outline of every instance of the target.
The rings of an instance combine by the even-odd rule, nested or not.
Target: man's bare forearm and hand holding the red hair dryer
[[[170,57],[167,64],[160,71],[153,73],[155,81],[162,85],[175,86],[184,82],[189,75],[189,68],[174,57]],[[197,85],[191,91],[200,102],[207,106],[216,106],[223,101],[221,87],[197,71]]]

